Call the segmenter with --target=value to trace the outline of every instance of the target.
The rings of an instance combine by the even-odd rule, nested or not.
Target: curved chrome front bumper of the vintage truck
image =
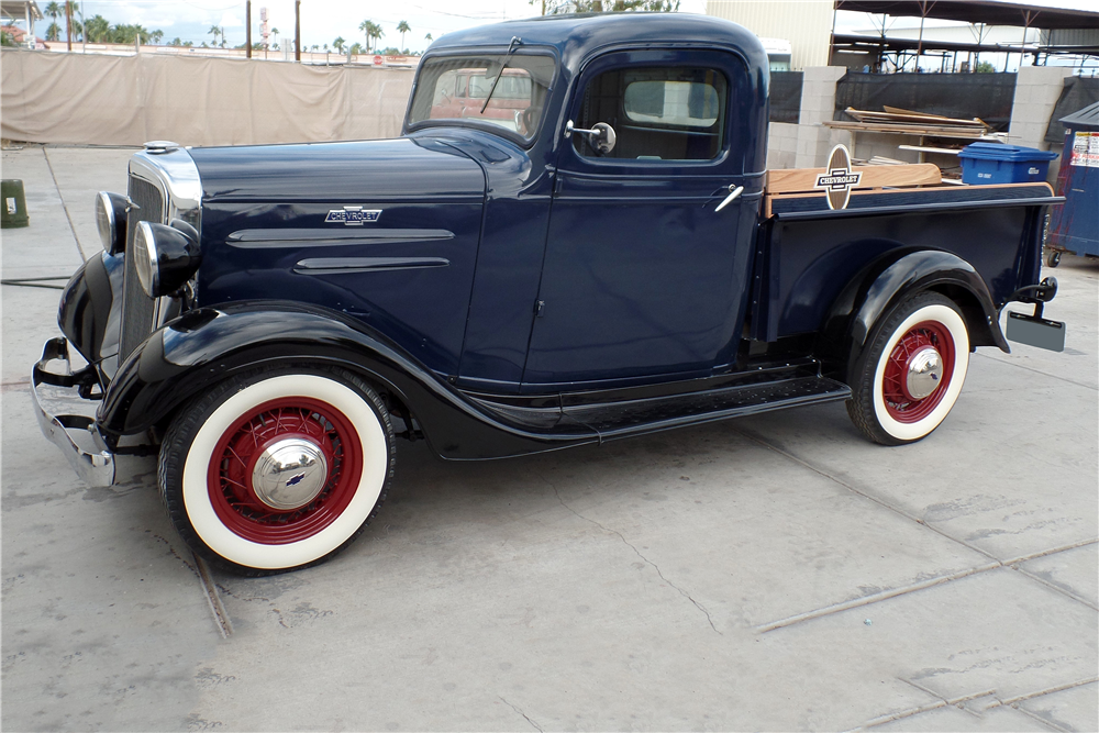
[[[64,374],[47,370],[46,364],[49,362],[64,362]],[[91,382],[95,381],[95,373],[89,369],[92,367],[73,374],[69,367],[68,342],[64,337],[51,338],[43,346],[42,358],[32,370],[31,395],[34,398],[35,415],[38,418],[42,434],[62,449],[77,475],[89,486],[111,486],[115,477],[115,456],[108,449],[107,443],[96,427],[95,419],[87,415],[55,415],[42,407],[43,400],[40,395],[42,385],[90,389]],[[92,449],[81,447],[76,436],[81,436],[84,440],[79,443],[91,445]]]

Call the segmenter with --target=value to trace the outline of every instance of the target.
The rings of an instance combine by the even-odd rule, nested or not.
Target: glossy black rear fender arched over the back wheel
[[[874,324],[897,302],[932,290],[958,304],[970,346],[999,346],[1010,353],[1000,331],[999,311],[973,265],[939,249],[890,252],[856,275],[835,302],[821,331],[819,353],[825,364],[844,368],[866,345]]]

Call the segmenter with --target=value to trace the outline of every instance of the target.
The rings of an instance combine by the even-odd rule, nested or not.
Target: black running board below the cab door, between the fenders
[[[846,385],[814,376],[564,408],[521,408],[485,399],[476,402],[522,430],[547,436],[598,437],[602,442],[850,398]]]

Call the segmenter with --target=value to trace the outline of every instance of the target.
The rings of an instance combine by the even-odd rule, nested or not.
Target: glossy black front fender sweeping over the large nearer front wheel
[[[119,368],[97,423],[114,436],[163,427],[213,385],[279,363],[337,365],[362,375],[412,412],[443,458],[498,458],[597,440],[506,424],[366,324],[271,301],[198,309],[154,333]]]

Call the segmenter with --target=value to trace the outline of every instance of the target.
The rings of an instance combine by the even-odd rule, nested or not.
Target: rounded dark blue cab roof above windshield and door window
[[[553,46],[562,63],[576,71],[595,52],[614,46],[690,45],[737,52],[750,70],[767,68],[763,44],[751,31],[731,21],[690,13],[584,13],[506,21],[447,33],[429,53],[495,46],[506,52],[513,37],[524,46]]]

